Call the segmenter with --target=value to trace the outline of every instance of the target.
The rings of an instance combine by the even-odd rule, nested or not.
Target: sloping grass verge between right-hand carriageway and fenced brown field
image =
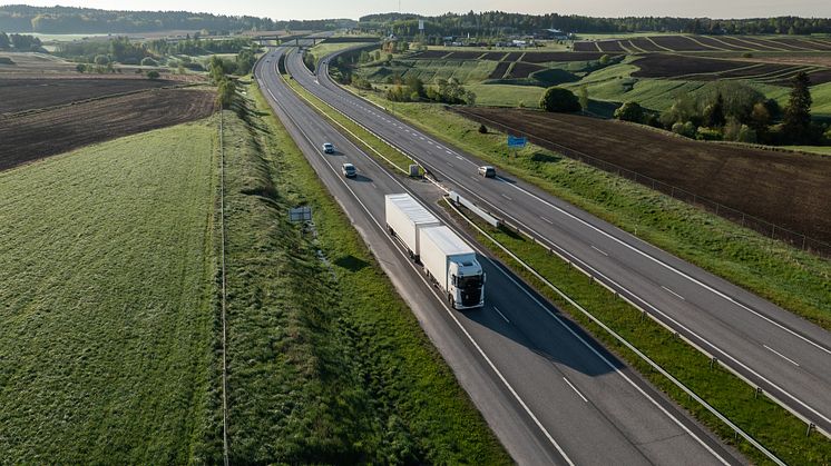
[[[831,329],[831,261],[540,147],[508,151],[505,135],[481,135],[479,123],[439,106],[395,110],[433,137]]]

